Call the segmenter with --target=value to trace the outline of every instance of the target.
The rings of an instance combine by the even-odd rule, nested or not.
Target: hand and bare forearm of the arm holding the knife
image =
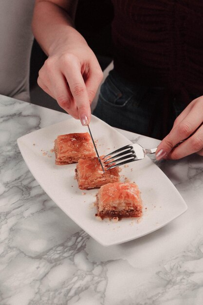
[[[87,125],[103,73],[86,40],[74,29],[77,0],[35,2],[33,33],[48,56],[37,83],[59,106]]]

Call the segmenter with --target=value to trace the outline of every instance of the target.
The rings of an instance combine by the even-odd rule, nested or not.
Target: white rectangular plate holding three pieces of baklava
[[[107,154],[131,142],[92,115],[92,135],[99,154]],[[121,180],[137,183],[142,192],[143,216],[117,223],[95,217],[98,190],[81,191],[74,179],[75,164],[55,165],[54,140],[59,134],[88,132],[69,119],[18,138],[18,147],[33,176],[50,198],[74,222],[103,246],[124,243],[155,231],[187,210],[185,201],[166,175],[146,156],[122,166]]]

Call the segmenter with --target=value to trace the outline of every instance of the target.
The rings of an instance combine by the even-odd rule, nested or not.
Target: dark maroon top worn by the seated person
[[[203,94],[203,0],[112,0],[114,66],[171,92]]]

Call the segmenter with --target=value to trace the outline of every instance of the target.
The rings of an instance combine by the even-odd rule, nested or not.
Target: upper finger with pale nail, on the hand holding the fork
[[[203,114],[199,106],[200,103],[196,103],[185,118],[172,128],[170,133],[162,140],[156,152],[157,160],[168,155],[176,144],[185,140],[200,126],[203,122]]]

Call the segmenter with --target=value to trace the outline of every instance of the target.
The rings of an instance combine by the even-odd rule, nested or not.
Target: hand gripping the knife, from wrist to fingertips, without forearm
[[[70,37],[56,39],[39,70],[37,83],[85,126],[90,123],[90,105],[103,73],[85,39],[75,29],[72,32],[73,42]]]

